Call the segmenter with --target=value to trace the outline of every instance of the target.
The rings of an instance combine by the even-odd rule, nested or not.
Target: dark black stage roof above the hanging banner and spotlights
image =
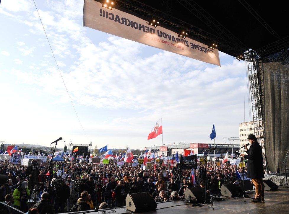
[[[101,2],[101,0],[97,0]],[[286,1],[115,0],[116,8],[236,57],[254,50],[265,57],[289,47]]]

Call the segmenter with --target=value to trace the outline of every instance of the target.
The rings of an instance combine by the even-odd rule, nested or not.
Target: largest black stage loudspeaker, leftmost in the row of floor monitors
[[[125,202],[126,209],[132,212],[155,210],[158,206],[149,192],[128,194]]]

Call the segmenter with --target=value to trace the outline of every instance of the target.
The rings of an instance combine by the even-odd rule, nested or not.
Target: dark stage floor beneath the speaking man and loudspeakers
[[[250,203],[251,198],[254,198],[255,192],[245,192],[244,197],[231,198],[222,197],[220,201],[213,201],[212,207],[208,205],[198,205],[192,206],[185,201],[169,201],[169,202],[159,202],[158,207],[153,211],[137,212],[137,213],[147,213],[147,214],[186,214],[186,213],[250,213],[250,214],[262,214],[262,213],[288,213],[289,210],[289,186],[282,185],[279,186],[276,191],[265,191],[265,203]],[[251,197],[251,198],[249,198]],[[119,207],[113,209],[104,209],[105,213],[110,210],[114,210],[116,213],[132,213],[126,210],[126,207]],[[82,212],[83,213],[83,212]],[[99,211],[101,213],[101,211]]]

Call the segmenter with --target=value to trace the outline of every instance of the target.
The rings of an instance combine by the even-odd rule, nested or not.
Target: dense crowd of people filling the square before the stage
[[[223,184],[238,183],[236,170],[242,173],[241,168],[229,162],[221,167],[211,161],[206,169],[200,165],[194,170],[196,184],[193,184],[191,170],[180,172],[178,164],[168,169],[157,162],[154,169],[152,162],[152,169],[142,170],[128,163],[117,166],[115,160],[104,165],[68,159],[52,163],[50,174],[47,166],[37,165],[37,160],[32,161],[31,166],[1,161],[0,174],[6,175],[7,180],[0,187],[0,201],[24,213],[35,208],[38,213],[46,214],[66,212],[67,199],[72,195],[76,198],[72,211],[124,206],[128,193],[149,192],[156,202],[181,200],[189,187],[203,187],[211,195],[219,194]],[[63,171],[60,175],[57,174],[59,170]],[[64,173],[67,174],[65,178]],[[35,197],[41,200],[34,201]]]

